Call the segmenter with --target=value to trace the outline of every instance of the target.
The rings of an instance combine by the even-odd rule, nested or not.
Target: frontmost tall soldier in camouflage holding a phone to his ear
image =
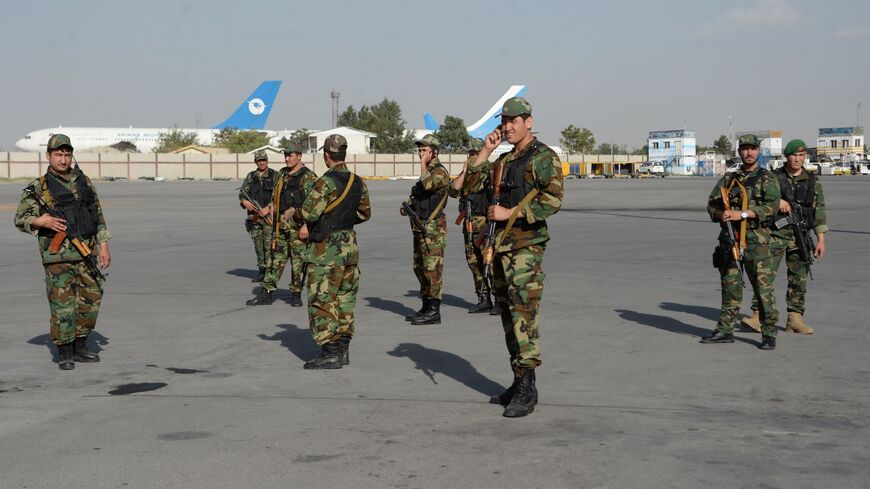
[[[562,164],[556,153],[532,134],[532,106],[513,97],[502,106],[501,126],[486,137],[464,185],[474,188],[496,165],[503,169],[499,192],[487,210],[497,223],[492,261],[493,291],[514,380],[490,402],[505,405],[504,416],[521,417],[538,402],[535,368],[541,364],[538,316],[544,291],[542,268],[550,239],[546,219],[562,207]],[[502,138],[513,149],[488,161]]]

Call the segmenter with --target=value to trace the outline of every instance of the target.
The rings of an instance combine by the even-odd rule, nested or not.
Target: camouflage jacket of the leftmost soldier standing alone
[[[49,170],[50,171],[50,170]],[[94,191],[96,194],[97,190],[94,187],[93,182],[84,174],[78,170],[70,170],[69,175],[59,175],[57,173],[53,173],[58,177],[58,181],[70,192],[74,195],[78,195],[78,188],[76,186],[76,182],[80,178],[84,178],[87,185]],[[33,185],[34,188],[39,191],[41,189],[42,198],[52,205],[53,198],[51,197],[51,193],[48,191],[47,185],[44,183],[44,179],[37,178],[30,182],[30,185]],[[97,234],[91,238],[88,245],[94,249],[96,252],[96,245],[99,243],[105,243],[111,239],[112,235],[109,234],[109,230],[106,227],[106,219],[103,217],[103,208],[100,206],[100,199],[97,197],[96,202],[97,207]],[[21,202],[18,204],[18,210],[15,211],[15,227],[17,227],[20,231],[31,234],[33,236],[37,236],[37,241],[39,243],[39,253],[42,256],[42,263],[63,263],[63,262],[73,262],[73,261],[81,261],[82,257],[79,254],[78,250],[76,250],[69,242],[69,240],[64,240],[61,244],[60,249],[57,253],[52,253],[49,250],[49,245],[51,244],[50,236],[39,236],[39,229],[32,227],[31,224],[33,220],[37,217],[45,214],[47,211],[39,205],[39,202],[31,195],[30,193],[25,192],[21,196]]]

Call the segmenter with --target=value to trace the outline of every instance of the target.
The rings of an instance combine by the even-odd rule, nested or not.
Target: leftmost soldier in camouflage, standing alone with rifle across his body
[[[93,256],[85,259],[80,250],[85,254],[93,250],[99,267],[107,268],[112,262],[111,235],[94,184],[78,165],[71,168],[69,137],[51,136],[46,157],[48,171],[30,182],[28,189],[63,217],[49,214],[33,193],[25,191],[15,213],[15,227],[37,237],[51,310],[51,341],[57,346],[58,367],[72,370],[74,362],[100,361],[99,355],[88,350],[87,337],[97,323],[103,287],[97,269],[89,268],[88,261],[96,265]],[[73,241],[84,246],[77,248]]]

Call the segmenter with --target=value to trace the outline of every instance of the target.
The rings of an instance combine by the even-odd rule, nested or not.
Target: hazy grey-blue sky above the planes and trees
[[[267,128],[325,129],[384,97],[471,124],[528,85],[535,129],[645,144],[682,128],[709,145],[870,111],[866,0],[429,2],[7,1],[0,15],[0,148],[65,126],[208,127],[262,80],[283,80]]]

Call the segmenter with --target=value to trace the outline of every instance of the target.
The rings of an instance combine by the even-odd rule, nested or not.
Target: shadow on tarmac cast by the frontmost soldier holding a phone
[[[433,384],[438,383],[435,374],[441,374],[487,397],[501,394],[505,390],[505,387],[478,372],[468,360],[450,352],[433,350],[417,343],[400,343],[387,353],[394,357],[409,358],[414,362],[414,368],[422,371]]]

